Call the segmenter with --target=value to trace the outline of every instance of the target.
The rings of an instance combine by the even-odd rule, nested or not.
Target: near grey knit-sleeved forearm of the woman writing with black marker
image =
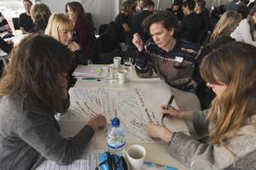
[[[234,161],[225,147],[202,143],[182,132],[175,133],[172,138],[169,154],[193,169],[226,169]]]

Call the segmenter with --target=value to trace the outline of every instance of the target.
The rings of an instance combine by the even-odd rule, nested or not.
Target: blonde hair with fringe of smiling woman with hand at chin
[[[59,41],[59,30],[73,32],[73,23],[65,14],[53,13],[50,16],[45,35],[52,36]]]

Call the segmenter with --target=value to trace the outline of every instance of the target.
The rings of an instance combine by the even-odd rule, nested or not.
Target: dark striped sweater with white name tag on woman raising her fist
[[[177,38],[175,47],[166,52],[151,39],[146,50],[136,56],[136,73],[139,77],[151,77],[153,69],[170,86],[181,89],[193,79],[200,46]],[[196,66],[195,66],[196,65]]]

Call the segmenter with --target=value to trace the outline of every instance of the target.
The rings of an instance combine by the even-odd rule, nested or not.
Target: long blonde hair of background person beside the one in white
[[[241,14],[238,14],[236,11],[227,11],[225,12],[218,23],[215,26],[212,36],[210,38],[210,43],[214,43],[218,37],[224,35],[230,35],[233,32],[233,27],[237,26],[242,20]]]

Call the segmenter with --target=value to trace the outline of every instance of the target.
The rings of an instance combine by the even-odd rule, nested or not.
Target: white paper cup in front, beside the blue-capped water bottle
[[[142,170],[146,156],[145,147],[139,144],[133,144],[127,148],[126,156],[132,170]]]

